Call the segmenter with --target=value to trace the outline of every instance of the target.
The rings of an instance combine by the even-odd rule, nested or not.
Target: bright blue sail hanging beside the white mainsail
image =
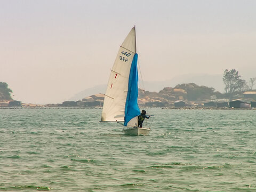
[[[138,106],[138,68],[137,68],[138,54],[135,53],[129,75],[128,91],[125,102],[124,111],[124,126],[133,118],[140,115],[140,108]]]

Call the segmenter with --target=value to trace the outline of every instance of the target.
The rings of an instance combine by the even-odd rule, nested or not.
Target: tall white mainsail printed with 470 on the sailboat
[[[130,68],[136,53],[135,27],[120,46],[111,69],[102,109],[102,122],[123,122]],[[137,117],[135,117],[137,118]]]

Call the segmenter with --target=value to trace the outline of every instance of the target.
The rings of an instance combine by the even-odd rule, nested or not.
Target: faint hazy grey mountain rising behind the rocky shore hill
[[[183,83],[195,83],[199,86],[213,87],[216,91],[223,92],[224,84],[222,82],[222,75],[209,75],[209,74],[187,74],[174,77],[167,81],[161,82],[139,82],[139,87],[147,91],[159,92],[164,87],[175,87],[178,84]],[[107,84],[98,85],[76,93],[73,97],[69,98],[69,101],[78,101],[83,98],[89,97],[90,95],[97,93],[105,93]]]

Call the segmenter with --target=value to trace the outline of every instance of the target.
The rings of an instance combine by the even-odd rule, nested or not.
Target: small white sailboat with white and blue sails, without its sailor
[[[105,93],[100,122],[117,122],[126,135],[147,135],[150,127],[138,126],[138,54],[135,26],[119,48]]]

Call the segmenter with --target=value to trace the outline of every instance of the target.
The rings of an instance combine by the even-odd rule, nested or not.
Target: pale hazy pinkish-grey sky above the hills
[[[134,25],[143,81],[225,69],[248,81],[255,10],[254,0],[0,0],[0,82],[13,99],[38,104],[107,84]]]

